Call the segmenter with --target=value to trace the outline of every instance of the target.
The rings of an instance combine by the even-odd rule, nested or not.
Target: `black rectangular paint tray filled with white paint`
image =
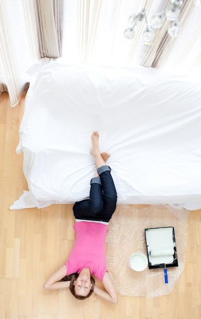
[[[174,227],[145,229],[149,269],[178,267]]]

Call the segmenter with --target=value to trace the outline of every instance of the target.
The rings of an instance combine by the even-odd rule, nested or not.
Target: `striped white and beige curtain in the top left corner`
[[[12,106],[27,90],[26,68],[61,56],[61,1],[0,0],[0,93]]]

